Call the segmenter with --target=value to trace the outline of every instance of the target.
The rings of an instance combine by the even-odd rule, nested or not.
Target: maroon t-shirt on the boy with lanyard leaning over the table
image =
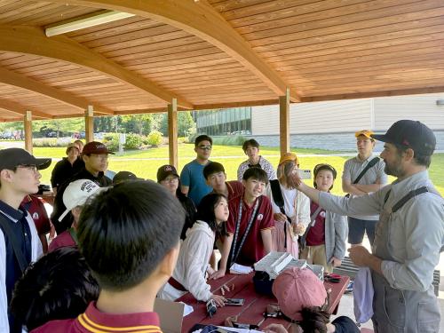
[[[258,206],[257,218],[253,221],[253,225],[250,228],[250,232],[247,235],[245,242],[243,243],[242,250],[239,253],[239,257],[236,263],[253,266],[258,260],[265,257],[264,242],[262,242],[261,230],[271,229],[274,227],[273,209],[268,199],[265,195],[260,198],[260,204]],[[257,201],[259,200],[256,199]],[[243,234],[247,229],[250,218],[253,214],[254,202],[251,207],[243,201],[243,195],[235,197],[228,202],[228,209],[230,210],[230,216],[226,221],[226,231],[228,234],[234,234],[236,230],[236,223],[239,216],[239,205],[242,200],[242,220],[239,227],[239,235],[237,238],[238,246],[242,242]],[[232,245],[234,247],[234,243]]]

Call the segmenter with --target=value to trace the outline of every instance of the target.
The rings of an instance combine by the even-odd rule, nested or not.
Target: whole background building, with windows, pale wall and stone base
[[[263,146],[279,146],[278,105],[239,109],[195,112],[197,131],[213,136],[242,134]],[[291,147],[355,150],[355,131],[385,132],[397,120],[414,119],[432,128],[437,149],[444,150],[442,93],[295,103],[290,105],[289,119]]]

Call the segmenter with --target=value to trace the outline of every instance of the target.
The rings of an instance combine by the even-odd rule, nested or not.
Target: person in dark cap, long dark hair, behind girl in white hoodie
[[[193,200],[186,197],[180,191],[180,178],[178,177],[178,171],[173,165],[165,164],[157,170],[157,183],[165,187],[170,194],[178,198],[178,201],[182,204],[186,212],[185,224],[180,234],[180,239],[185,240],[186,230],[191,228],[194,224],[194,215],[196,213]]]

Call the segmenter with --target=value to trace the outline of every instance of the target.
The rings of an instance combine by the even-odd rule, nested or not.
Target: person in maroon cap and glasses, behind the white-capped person
[[[107,146],[101,142],[91,141],[83,147],[82,158],[84,168],[60,185],[54,198],[54,210],[52,211],[51,220],[54,221],[57,234],[63,233],[73,224],[71,214],[68,214],[59,221],[60,215],[67,209],[63,203],[63,193],[69,183],[77,179],[90,179],[100,187],[112,185],[112,180],[104,174],[107,170],[108,155],[110,154],[114,155],[114,153],[110,152]]]

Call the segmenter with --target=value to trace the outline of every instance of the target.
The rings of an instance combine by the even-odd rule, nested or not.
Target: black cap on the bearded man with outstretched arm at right
[[[385,134],[372,134],[373,139],[413,149],[416,154],[430,156],[436,146],[433,131],[414,120],[393,123]]]

